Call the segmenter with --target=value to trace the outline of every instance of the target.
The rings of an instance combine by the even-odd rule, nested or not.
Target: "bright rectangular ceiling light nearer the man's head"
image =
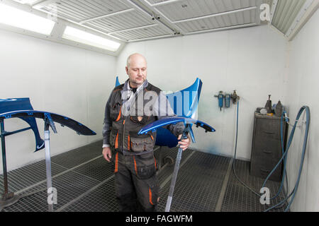
[[[98,47],[101,49],[107,49],[112,52],[116,52],[116,50],[118,50],[118,47],[120,47],[121,45],[121,43],[114,42],[104,37],[93,35],[89,32],[85,32],[83,30],[79,30],[69,26],[65,28],[65,32],[62,38],[65,38],[67,40],[72,40],[74,42],[89,44],[91,46]]]

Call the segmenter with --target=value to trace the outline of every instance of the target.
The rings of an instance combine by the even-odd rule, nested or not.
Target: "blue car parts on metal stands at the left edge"
[[[20,118],[30,124],[30,127],[26,129],[19,129],[18,131],[6,132],[4,130],[4,119],[11,118]],[[1,149],[2,149],[2,162],[4,168],[4,194],[0,200],[0,211],[6,206],[11,206],[13,203],[16,203],[19,198],[22,196],[15,196],[14,193],[9,193],[8,190],[8,175],[6,169],[6,145],[5,145],[5,136],[9,136],[13,133],[18,133],[21,131],[26,131],[28,129],[33,129],[33,132],[38,133],[38,126],[36,126],[35,118],[43,119],[45,121],[45,141],[42,146],[38,146],[35,151],[45,147],[45,163],[46,163],[46,173],[47,173],[47,194],[52,196],[52,192],[49,193],[49,189],[52,188],[52,177],[51,177],[51,158],[50,158],[50,131],[57,133],[55,128],[55,123],[60,123],[61,125],[67,126],[70,129],[73,129],[78,134],[82,135],[96,135],[94,131],[87,128],[83,124],[69,119],[60,114],[50,113],[50,112],[41,112],[34,111],[33,107],[30,105],[29,98],[16,98],[16,99],[1,99],[0,100],[0,129],[1,129]],[[36,128],[36,130],[35,130]],[[35,138],[40,138],[40,135],[35,134]],[[43,140],[42,140],[43,141]],[[42,191],[42,190],[41,190]],[[34,194],[33,192],[32,194]],[[23,195],[27,196],[27,195]],[[53,204],[49,205],[49,211],[53,210]]]

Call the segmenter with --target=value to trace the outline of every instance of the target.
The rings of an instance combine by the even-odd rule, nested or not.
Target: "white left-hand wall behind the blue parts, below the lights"
[[[65,115],[96,131],[79,136],[56,124],[50,134],[51,155],[101,140],[103,112],[109,83],[114,78],[116,57],[48,42],[0,30],[0,98],[30,97],[35,110]],[[43,138],[43,120],[37,119]],[[21,119],[6,119],[6,131],[27,127]],[[44,150],[33,153],[31,130],[6,137],[8,169],[44,159]],[[2,161],[0,163],[2,173]]]

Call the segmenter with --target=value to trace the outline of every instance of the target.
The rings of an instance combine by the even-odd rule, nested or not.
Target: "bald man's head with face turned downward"
[[[130,65],[125,67],[126,73],[130,78],[130,85],[137,88],[142,85],[147,77],[147,64],[141,55],[133,55],[130,57]]]

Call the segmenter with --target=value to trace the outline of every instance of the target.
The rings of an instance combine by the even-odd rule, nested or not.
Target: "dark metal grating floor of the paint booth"
[[[102,141],[70,150],[52,157],[52,184],[57,189],[57,212],[114,212],[118,205],[114,196],[114,176],[111,164],[101,155]],[[160,155],[159,155],[160,152]],[[157,148],[155,157],[176,158],[177,148]],[[179,212],[261,212],[267,208],[259,197],[237,181],[230,164],[232,159],[219,155],[185,150],[177,176],[171,211]],[[164,162],[162,162],[162,165]],[[250,176],[250,162],[236,160],[238,177],[255,191],[263,179]],[[174,165],[165,165],[157,172],[160,185],[160,212],[166,206]],[[230,172],[231,171],[231,172]],[[45,160],[15,169],[8,174],[9,191],[26,195],[2,212],[45,212],[47,193]],[[278,182],[269,181],[272,194],[279,189]],[[42,191],[41,191],[42,190]],[[0,175],[0,193],[4,191]],[[271,203],[282,200],[281,194]],[[284,208],[276,211],[283,211]]]

